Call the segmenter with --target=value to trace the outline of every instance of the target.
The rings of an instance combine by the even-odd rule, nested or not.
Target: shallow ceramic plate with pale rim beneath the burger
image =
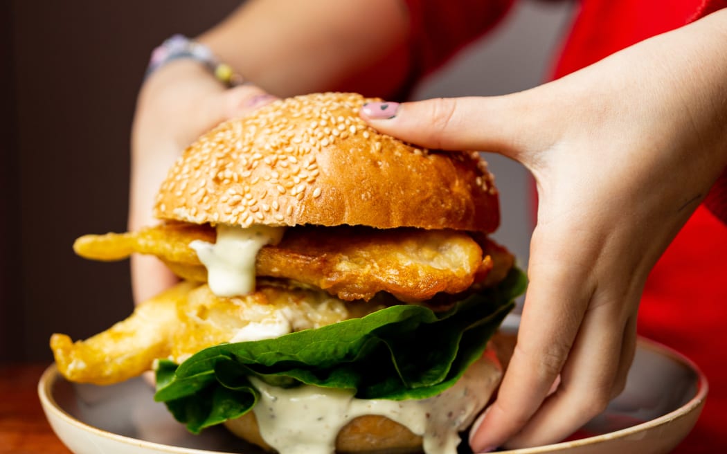
[[[76,454],[260,454],[224,429],[189,434],[141,378],[112,386],[71,384],[51,366],[38,386],[58,437]],[[606,411],[555,445],[504,451],[535,453],[667,453],[691,430],[707,381],[680,354],[640,339],[624,392]]]

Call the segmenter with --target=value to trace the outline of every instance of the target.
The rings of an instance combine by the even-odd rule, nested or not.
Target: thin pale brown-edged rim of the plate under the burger
[[[686,404],[680,406],[679,408],[670,411],[669,413],[665,413],[662,416],[659,416],[658,418],[651,419],[649,421],[644,421],[643,423],[638,423],[635,426],[630,426],[625,429],[619,429],[617,431],[608,432],[608,434],[598,434],[593,435],[592,437],[585,437],[581,439],[574,439],[564,442],[558,442],[553,443],[550,445],[542,445],[542,446],[536,446],[536,447],[525,447],[525,448],[519,448],[514,450],[505,450],[500,451],[502,454],[539,454],[539,453],[547,453],[553,450],[568,450],[568,449],[574,449],[576,447],[583,447],[587,445],[593,445],[594,443],[597,443],[603,439],[603,437],[608,437],[608,439],[618,439],[622,437],[627,437],[630,434],[633,434],[638,431],[642,430],[648,430],[653,429],[658,426],[662,426],[663,424],[669,422],[669,421],[675,421],[680,418],[684,418],[691,414],[693,411],[698,410],[701,411],[701,407],[704,405],[704,401],[706,400],[707,393],[709,392],[709,383],[707,381],[707,377],[704,376],[704,373],[702,370],[697,366],[692,360],[685,357],[683,354],[680,354],[675,349],[672,349],[669,346],[665,346],[664,344],[661,344],[657,341],[653,341],[651,339],[646,339],[642,336],[638,336],[637,338],[637,348],[643,347],[644,349],[649,349],[651,351],[655,351],[659,354],[663,354],[664,356],[670,357],[672,360],[675,360],[676,362],[680,362],[683,365],[686,365],[686,367],[690,368],[691,370],[694,370],[694,373],[696,373],[696,393],[694,397],[692,397]],[[96,434],[100,437],[105,437],[107,439],[112,439],[113,441],[124,443],[126,445],[132,445],[134,447],[144,447],[147,449],[153,449],[158,450],[162,453],[172,453],[172,454],[239,454],[239,453],[230,453],[228,451],[210,451],[210,450],[199,450],[195,448],[190,447],[179,447],[179,446],[172,446],[172,445],[162,445],[161,443],[156,442],[150,442],[143,439],[137,439],[132,437],[126,437],[125,435],[119,435],[115,434],[110,431],[105,431],[103,429],[99,429],[95,426],[91,426],[88,423],[84,423],[83,421],[79,421],[78,419],[71,416],[69,413],[67,413],[63,408],[58,405],[58,403],[55,400],[55,397],[52,394],[52,386],[55,385],[55,383],[62,378],[60,375],[60,372],[57,369],[57,365],[55,362],[53,362],[51,365],[49,365],[46,370],[44,370],[43,374],[41,375],[41,378],[38,382],[38,395],[39,399],[41,401],[41,405],[44,409],[44,412],[47,413],[47,418],[49,418],[48,413],[53,413],[54,416],[57,418],[60,418],[61,420],[65,421],[65,423],[70,424],[71,426],[75,426],[76,429],[81,429],[84,431],[89,431],[93,434]],[[50,422],[50,421],[49,421]],[[58,437],[57,431],[55,427],[52,427],[53,431],[56,433],[56,436]],[[60,438],[60,437],[59,437]],[[63,441],[63,440],[62,440]]]

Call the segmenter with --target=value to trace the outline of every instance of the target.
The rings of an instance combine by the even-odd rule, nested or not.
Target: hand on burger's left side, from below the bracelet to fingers
[[[246,115],[274,99],[252,85],[225,89],[193,60],[174,60],[156,70],[142,86],[134,117],[129,230],[158,222],[152,216],[156,192],[167,170],[190,143],[218,123]],[[155,257],[132,258],[137,303],[175,280]]]

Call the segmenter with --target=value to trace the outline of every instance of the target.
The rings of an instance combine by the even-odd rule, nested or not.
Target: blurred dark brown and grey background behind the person
[[[172,33],[195,36],[240,3],[0,1],[0,362],[49,361],[54,331],[84,338],[131,312],[128,263],[89,262],[71,244],[125,230],[129,133],[151,49]],[[538,84],[570,12],[569,2],[518,2],[414,97]],[[529,180],[498,158],[498,239],[526,264]]]

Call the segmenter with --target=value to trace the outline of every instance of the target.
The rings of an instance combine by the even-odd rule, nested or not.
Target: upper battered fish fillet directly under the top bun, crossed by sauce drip
[[[206,269],[189,243],[214,243],[215,238],[209,225],[169,223],[139,232],[85,235],[73,248],[97,260],[153,254],[180,277],[206,282]],[[258,276],[315,285],[346,301],[369,300],[385,291],[406,302],[465,291],[492,267],[492,257],[465,232],[369,227],[289,229],[277,246],[260,250],[255,266]]]

